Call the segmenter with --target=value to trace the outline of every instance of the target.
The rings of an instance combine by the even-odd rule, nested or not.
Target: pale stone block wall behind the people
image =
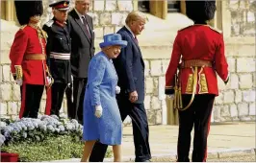
[[[47,6],[48,1],[43,1]],[[133,9],[133,1],[94,1],[91,4],[90,15],[93,17],[96,43],[102,36],[114,33],[124,23],[129,11]],[[237,13],[240,17],[240,12]],[[47,9],[42,18],[42,24],[51,18],[51,10]],[[185,16],[177,15],[179,22],[187,21]],[[139,36],[142,56],[145,62],[145,108],[150,125],[166,124],[167,109],[165,89],[165,73],[172,50],[173,39],[177,29],[181,28],[172,23],[156,18],[150,18],[150,28]],[[164,21],[163,29],[157,29]],[[234,21],[235,22],[235,21]],[[235,27],[235,23],[230,28]],[[167,26],[173,26],[168,29]],[[188,23],[189,24],[189,23]],[[255,24],[255,21],[254,21]],[[175,26],[175,27],[174,27]],[[183,23],[186,26],[186,23]],[[154,27],[154,28],[153,28]],[[177,28],[178,27],[178,28]],[[243,26],[246,27],[246,26]],[[249,25],[249,27],[251,27]],[[245,28],[245,29],[249,29]],[[0,102],[1,116],[16,117],[20,107],[19,87],[13,82],[10,73],[10,60],[8,58],[10,47],[13,43],[13,35],[17,27],[1,20],[1,64],[0,64]],[[174,30],[173,30],[174,29]],[[151,31],[150,31],[151,30]],[[236,31],[236,30],[234,30]],[[255,39],[239,30],[240,33],[232,33],[232,37],[225,38],[226,57],[229,63],[230,82],[224,85],[218,78],[219,96],[216,99],[212,122],[227,121],[252,121],[255,120]],[[243,32],[243,33],[242,33]],[[154,38],[148,38],[148,35]],[[245,37],[239,37],[243,35]],[[40,106],[40,112],[44,112],[45,94]],[[64,100],[62,112],[66,113]],[[126,124],[130,124],[127,118]]]

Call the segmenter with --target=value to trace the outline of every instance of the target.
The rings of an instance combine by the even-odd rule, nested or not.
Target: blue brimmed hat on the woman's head
[[[119,34],[110,34],[103,36],[104,42],[99,44],[100,48],[104,48],[106,46],[119,45],[122,48],[127,46],[127,41],[122,40],[122,36]]]

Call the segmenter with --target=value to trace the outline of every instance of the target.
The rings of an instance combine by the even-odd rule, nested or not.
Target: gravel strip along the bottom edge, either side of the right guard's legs
[[[175,162],[173,158],[153,158],[152,162]],[[255,162],[256,156],[253,153],[243,154],[243,155],[234,155],[224,158],[211,158],[207,162]]]

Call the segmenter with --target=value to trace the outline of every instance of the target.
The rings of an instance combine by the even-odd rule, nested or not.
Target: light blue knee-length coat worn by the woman
[[[84,100],[83,138],[99,140],[106,145],[120,145],[122,121],[115,100],[117,75],[112,59],[100,52],[90,60],[88,84]],[[97,118],[95,105],[103,108]]]

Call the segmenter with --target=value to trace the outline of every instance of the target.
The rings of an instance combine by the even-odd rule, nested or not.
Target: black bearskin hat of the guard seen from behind
[[[192,21],[205,23],[215,17],[216,0],[192,1],[186,0],[186,13]]]

